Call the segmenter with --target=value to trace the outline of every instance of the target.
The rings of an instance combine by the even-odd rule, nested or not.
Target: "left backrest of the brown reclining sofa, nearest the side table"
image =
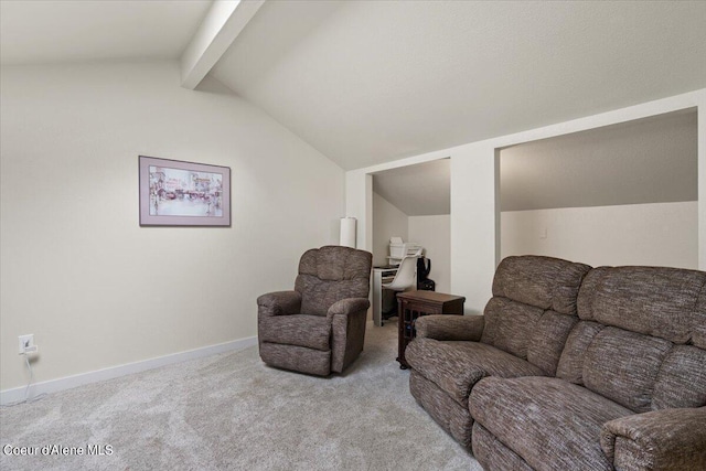
[[[554,376],[569,332],[578,322],[577,297],[591,267],[542,256],[507,257],[493,279],[481,342],[527,360]]]

